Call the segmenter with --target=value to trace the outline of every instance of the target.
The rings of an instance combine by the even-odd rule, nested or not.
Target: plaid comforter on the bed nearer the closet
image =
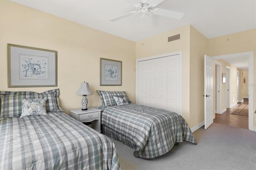
[[[176,142],[196,144],[184,118],[171,111],[130,103],[102,109],[102,132],[134,148],[134,156],[156,158]]]

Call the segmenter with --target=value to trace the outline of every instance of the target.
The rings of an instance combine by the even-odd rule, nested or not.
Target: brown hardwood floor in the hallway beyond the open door
[[[248,129],[248,116],[242,115],[232,115],[231,113],[235,111],[242,103],[238,103],[232,108],[227,108],[227,110],[222,114],[215,113],[214,123],[219,123],[222,125],[229,125],[232,127],[247,128]],[[241,111],[248,113],[248,105]]]

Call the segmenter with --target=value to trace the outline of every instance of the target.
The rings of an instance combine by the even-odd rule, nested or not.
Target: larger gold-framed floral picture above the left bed
[[[57,51],[7,44],[8,87],[56,87]]]

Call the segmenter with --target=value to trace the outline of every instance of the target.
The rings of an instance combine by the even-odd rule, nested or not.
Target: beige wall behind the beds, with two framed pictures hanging
[[[58,51],[58,87],[8,88],[7,43]],[[122,86],[100,86],[100,57],[122,61]],[[65,113],[81,108],[76,95],[80,83],[89,83],[88,107],[101,105],[96,90],[126,91],[135,102],[135,42],[10,2],[0,1],[0,90],[60,89]]]

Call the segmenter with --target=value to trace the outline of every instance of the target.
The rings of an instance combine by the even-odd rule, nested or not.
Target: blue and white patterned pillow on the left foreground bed
[[[21,99],[22,111],[20,118],[27,116],[47,115],[46,113],[47,99]]]

